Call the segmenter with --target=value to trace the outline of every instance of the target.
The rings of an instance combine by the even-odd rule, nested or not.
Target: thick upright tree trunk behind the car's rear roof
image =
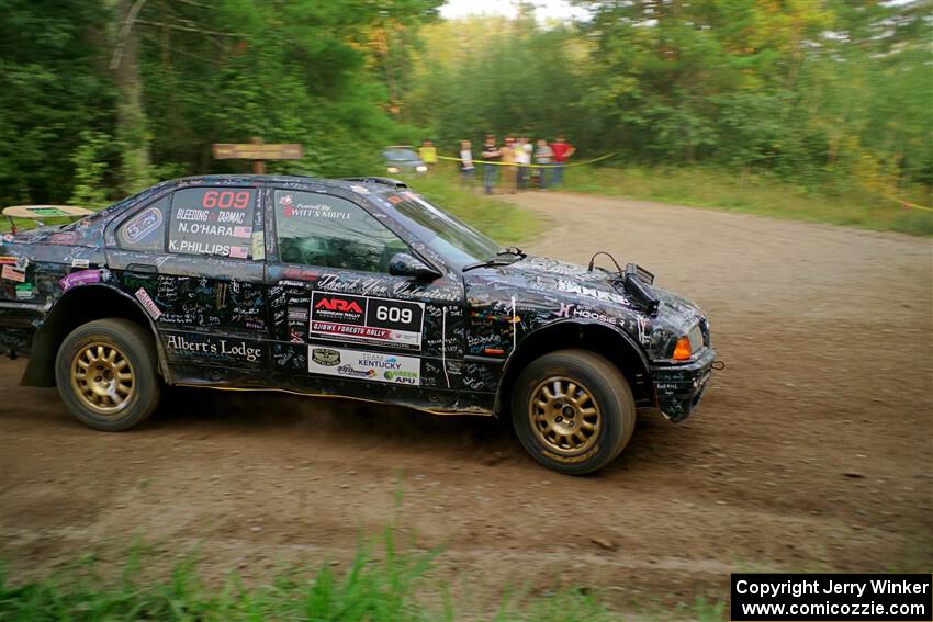
[[[111,63],[117,91],[116,137],[123,152],[122,190],[136,192],[149,182],[149,137],[143,110],[143,79],[133,22],[145,0],[116,0],[116,46]]]

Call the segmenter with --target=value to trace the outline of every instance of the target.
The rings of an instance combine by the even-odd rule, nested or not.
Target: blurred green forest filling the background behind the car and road
[[[928,0],[574,0],[586,16],[560,23],[441,3],[0,0],[0,202],[246,172],[211,144],[252,136],[304,145],[273,172],[350,176],[387,144],[490,132],[931,202]]]

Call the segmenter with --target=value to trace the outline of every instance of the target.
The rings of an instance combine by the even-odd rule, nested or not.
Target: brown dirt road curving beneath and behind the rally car
[[[699,410],[641,417],[605,471],[546,471],[492,419],[277,393],[172,391],[94,432],[0,362],[0,558],[13,579],[135,539],[268,578],[346,563],[402,525],[479,602],[507,583],[614,601],[728,595],[733,569],[933,568],[931,242],[655,203],[528,193],[529,245],[595,250],[699,303],[718,358]],[[396,496],[400,500],[396,501]],[[472,595],[472,596],[471,596]]]

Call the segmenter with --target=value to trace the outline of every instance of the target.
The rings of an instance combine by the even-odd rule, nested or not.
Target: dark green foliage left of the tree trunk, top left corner
[[[103,9],[83,0],[0,0],[0,203],[72,194],[85,131],[112,123],[113,89],[97,42]]]

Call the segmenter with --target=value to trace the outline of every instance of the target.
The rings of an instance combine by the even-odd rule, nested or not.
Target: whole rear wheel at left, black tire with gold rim
[[[95,430],[125,430],[159,403],[158,358],[153,337],[127,319],[99,319],[71,331],[55,359],[61,400]]]

